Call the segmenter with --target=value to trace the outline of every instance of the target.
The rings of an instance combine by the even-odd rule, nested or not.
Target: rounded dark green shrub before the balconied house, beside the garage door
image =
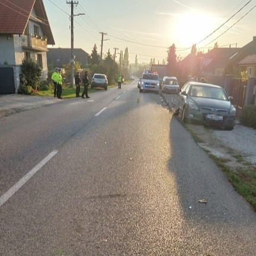
[[[33,59],[24,59],[21,63],[21,73],[26,81],[25,85],[37,89],[41,77],[41,67]]]

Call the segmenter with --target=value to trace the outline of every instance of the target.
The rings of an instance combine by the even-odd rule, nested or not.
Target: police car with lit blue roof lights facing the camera
[[[140,81],[140,92],[143,91],[153,91],[159,92],[159,76],[155,71],[145,71],[142,74],[142,79]]]

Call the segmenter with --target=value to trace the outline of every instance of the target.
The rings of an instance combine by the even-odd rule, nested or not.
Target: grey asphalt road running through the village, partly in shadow
[[[0,119],[0,255],[248,256],[255,241],[255,212],[136,81]]]

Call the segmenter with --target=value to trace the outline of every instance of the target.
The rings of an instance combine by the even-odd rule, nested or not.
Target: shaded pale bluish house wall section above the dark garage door
[[[5,60],[9,65],[15,65],[14,37],[7,39],[8,35],[0,35],[0,65]]]

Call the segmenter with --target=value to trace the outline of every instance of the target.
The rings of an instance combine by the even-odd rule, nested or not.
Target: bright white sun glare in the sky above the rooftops
[[[216,27],[216,18],[201,13],[182,14],[175,25],[177,44],[190,47],[198,43]]]

